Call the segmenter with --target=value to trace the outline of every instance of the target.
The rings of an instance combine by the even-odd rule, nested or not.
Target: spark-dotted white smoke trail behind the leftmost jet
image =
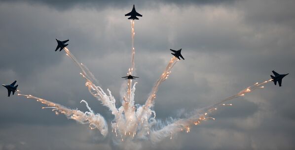
[[[42,107],[42,109],[52,108],[52,111],[55,111],[56,115],[60,113],[64,114],[67,116],[68,119],[76,120],[77,122],[82,124],[89,124],[89,127],[91,129],[97,128],[101,132],[101,134],[104,136],[108,134],[108,124],[106,120],[100,114],[94,114],[93,111],[88,106],[87,102],[84,100],[82,101],[86,103],[86,106],[90,112],[83,113],[79,110],[69,109],[63,105],[60,105],[60,104],[57,104],[57,103],[33,96],[33,95],[24,95],[20,93],[18,93],[18,95],[25,96],[27,98],[36,99],[38,102],[41,102],[42,104],[45,104],[48,106],[48,107]]]

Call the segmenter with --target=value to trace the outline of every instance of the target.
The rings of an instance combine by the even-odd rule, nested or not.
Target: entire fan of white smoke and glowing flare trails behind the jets
[[[133,75],[133,71],[135,70],[134,35],[134,20],[131,20],[131,67],[128,69],[127,75]],[[127,92],[122,97],[122,106],[117,108],[115,106],[115,98],[112,96],[111,91],[107,89],[107,94],[101,87],[96,86],[95,84],[98,84],[98,81],[89,71],[89,69],[85,65],[80,63],[68,48],[65,47],[64,49],[66,55],[69,56],[71,60],[73,60],[74,63],[79,67],[81,71],[80,74],[86,80],[85,86],[88,87],[89,92],[104,106],[108,107],[112,115],[114,115],[114,119],[113,121],[111,121],[111,132],[115,135],[114,139],[117,142],[132,142],[135,139],[149,139],[151,142],[156,143],[166,137],[170,137],[170,139],[172,139],[172,137],[178,132],[189,132],[190,126],[192,125],[198,125],[204,120],[215,120],[214,118],[207,116],[212,111],[216,110],[219,106],[231,106],[231,104],[224,104],[224,102],[239,96],[243,96],[255,89],[263,88],[262,85],[271,81],[268,80],[262,83],[256,83],[233,96],[221,100],[220,102],[212,106],[203,108],[201,110],[194,110],[193,112],[189,113],[189,117],[187,118],[171,119],[170,121],[162,123],[160,120],[155,120],[155,112],[152,110],[152,107],[154,106],[154,100],[160,84],[169,77],[171,69],[178,61],[176,57],[173,57],[169,61],[167,67],[152,88],[144,105],[135,105],[134,95],[135,86],[137,83],[132,84],[132,79],[129,79],[127,82]],[[84,102],[89,110],[89,112],[85,113],[79,110],[66,108],[65,106],[62,106],[60,104],[35,97],[33,95],[25,95],[20,93],[18,95],[36,99],[38,102],[41,102],[48,106],[43,108],[52,108],[52,111],[55,111],[57,115],[62,113],[66,115],[69,119],[76,120],[83,124],[89,124],[89,127],[91,129],[97,128],[104,136],[108,134],[108,124],[106,120],[100,114],[95,114],[88,106],[87,102],[84,100],[82,100],[81,102]],[[157,128],[156,126],[160,126],[160,128]]]

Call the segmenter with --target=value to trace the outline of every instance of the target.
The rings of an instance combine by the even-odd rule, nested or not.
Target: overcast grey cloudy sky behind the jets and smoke
[[[86,111],[81,99],[108,122],[111,112],[84,86],[75,64],[54,52],[55,38],[109,88],[119,105],[121,76],[130,66],[130,21],[135,3],[135,100],[143,104],[153,83],[183,48],[171,76],[159,88],[157,119],[202,108],[270,78],[290,73],[283,86],[265,85],[232,107],[161,144],[143,150],[294,150],[294,0],[0,1],[0,83],[18,81],[22,93]],[[65,6],[65,8],[64,8]],[[34,100],[0,90],[0,150],[116,150],[108,136],[56,116]]]

